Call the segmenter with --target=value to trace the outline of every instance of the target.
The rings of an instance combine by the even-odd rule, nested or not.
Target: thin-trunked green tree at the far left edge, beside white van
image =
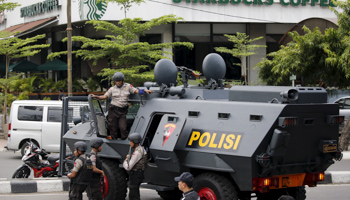
[[[6,73],[5,73],[5,79],[8,78],[8,68],[10,65],[10,60],[13,58],[22,58],[22,57],[28,57],[33,56],[41,51],[43,48],[47,48],[50,46],[50,44],[38,44],[38,40],[45,38],[45,34],[37,35],[30,38],[17,38],[14,37],[19,32],[6,32],[2,31],[0,32],[0,55],[5,56],[6,58]],[[3,113],[6,113],[7,108],[7,81],[5,81],[4,86],[4,93],[5,93],[5,100],[4,100],[4,111]],[[6,115],[4,115],[4,124],[6,123]]]

